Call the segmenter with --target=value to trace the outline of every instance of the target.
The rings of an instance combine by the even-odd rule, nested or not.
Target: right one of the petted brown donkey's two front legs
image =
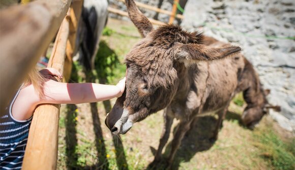
[[[189,121],[181,121],[179,123],[178,129],[176,130],[173,140],[172,140],[172,145],[171,145],[171,151],[168,157],[168,164],[171,166],[173,158],[175,156],[176,151],[180,147],[181,141],[185,135],[185,133],[190,129],[190,124],[192,120]]]

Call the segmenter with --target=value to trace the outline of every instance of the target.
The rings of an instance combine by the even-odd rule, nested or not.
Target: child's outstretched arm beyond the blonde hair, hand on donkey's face
[[[53,80],[45,82],[44,99],[39,104],[80,104],[93,103],[120,97],[125,89],[125,78],[117,85],[96,83],[60,83]]]

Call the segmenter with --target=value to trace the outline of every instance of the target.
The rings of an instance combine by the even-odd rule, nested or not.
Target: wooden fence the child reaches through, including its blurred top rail
[[[72,69],[82,0],[39,0],[0,12],[1,113],[55,37],[48,67]],[[71,7],[70,7],[71,6]],[[41,105],[30,127],[22,169],[55,169],[60,105]]]

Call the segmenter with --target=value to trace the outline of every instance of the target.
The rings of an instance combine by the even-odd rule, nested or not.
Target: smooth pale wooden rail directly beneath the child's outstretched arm
[[[66,47],[70,32],[69,20],[69,16],[63,20],[48,63],[48,67],[53,67],[61,74],[63,74],[66,59]],[[28,134],[22,169],[56,169],[59,116],[60,105],[40,105],[37,107]]]

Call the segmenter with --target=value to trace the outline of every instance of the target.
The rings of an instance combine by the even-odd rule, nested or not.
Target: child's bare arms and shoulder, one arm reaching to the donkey
[[[43,70],[47,78],[62,75],[54,69]],[[49,71],[49,72],[48,72]],[[33,85],[22,88],[13,104],[12,114],[17,120],[26,120],[32,117],[35,108],[40,104],[81,104],[93,103],[120,97],[125,89],[125,78],[117,85],[103,85],[96,83],[60,83],[47,80],[44,83],[44,98],[40,98]]]

